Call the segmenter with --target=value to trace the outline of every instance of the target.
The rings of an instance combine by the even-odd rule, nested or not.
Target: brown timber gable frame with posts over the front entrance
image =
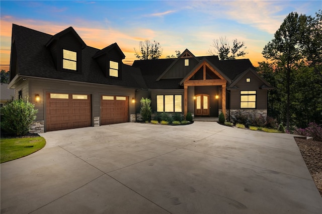
[[[202,80],[191,80],[197,71],[203,68],[203,79]],[[219,79],[206,79],[206,68],[209,68],[214,74],[216,74]],[[229,80],[229,79],[228,79]],[[218,72],[213,66],[211,66],[206,60],[200,63],[182,82],[184,85],[184,115],[187,116],[188,113],[188,87],[189,86],[211,86],[211,85],[221,85],[221,110],[224,116],[226,116],[226,84],[227,79]]]

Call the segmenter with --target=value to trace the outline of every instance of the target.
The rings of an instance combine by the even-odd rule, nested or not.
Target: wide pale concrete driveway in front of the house
[[[41,134],[1,164],[1,213],[321,213],[288,134],[124,123]]]

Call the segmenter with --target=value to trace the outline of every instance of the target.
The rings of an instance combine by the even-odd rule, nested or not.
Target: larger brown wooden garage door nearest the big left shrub
[[[92,125],[91,95],[47,93],[46,131]]]

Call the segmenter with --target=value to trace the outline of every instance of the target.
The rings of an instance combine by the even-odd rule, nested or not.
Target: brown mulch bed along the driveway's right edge
[[[322,196],[322,142],[295,138],[306,166]]]

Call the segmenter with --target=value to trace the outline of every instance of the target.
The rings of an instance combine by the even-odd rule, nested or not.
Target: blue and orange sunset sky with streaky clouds
[[[72,26],[88,46],[117,43],[125,64],[139,41],[155,40],[162,58],[189,49],[209,55],[212,41],[244,41],[257,66],[264,46],[291,12],[315,16],[321,1],[1,1],[1,69],[9,70],[12,24],[54,35]]]

